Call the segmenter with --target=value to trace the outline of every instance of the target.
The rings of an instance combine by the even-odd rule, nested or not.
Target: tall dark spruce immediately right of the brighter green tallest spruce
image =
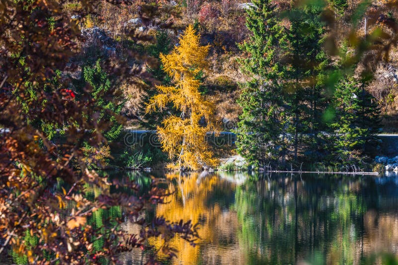
[[[284,47],[287,62],[283,72],[290,111],[288,132],[294,161],[301,151],[307,160],[319,157],[324,142],[322,113],[328,102],[323,80],[329,60],[322,45],[325,25],[321,21],[323,6],[300,5],[289,13],[288,45]],[[322,131],[322,133],[321,133]]]

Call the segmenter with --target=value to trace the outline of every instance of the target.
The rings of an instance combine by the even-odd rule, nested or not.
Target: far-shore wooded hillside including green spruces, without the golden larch
[[[105,2],[81,19],[76,15],[80,2],[70,1],[65,10],[81,26],[85,42],[83,53],[70,63],[73,70],[63,74],[77,80],[71,87],[77,91],[78,80],[88,81],[87,67],[99,60],[112,64],[128,58],[129,53],[138,54],[127,64],[142,70],[146,79],[108,78],[115,79],[113,85],[120,93],[117,113],[127,118],[125,128],[154,130],[175,113],[172,105],[163,112],[145,112],[149,99],[157,94],[156,85],[173,83],[160,54],[178,46],[181,34],[191,24],[200,35],[200,44],[209,45],[207,65],[197,76],[199,92],[214,103],[220,131],[238,134],[239,154],[262,167],[270,162],[329,160],[362,165],[378,154],[373,135],[397,130],[395,48],[390,50],[389,60],[374,62],[371,76],[364,74],[366,64],[358,58],[352,60],[363,55],[361,49],[371,49],[372,30],[395,21],[393,9],[372,17],[372,10],[385,4],[331,0],[306,1],[297,7],[289,1],[147,0],[115,8]],[[126,32],[145,39],[125,39]],[[355,34],[357,43],[347,36],[349,32]],[[329,47],[330,38],[338,52]],[[361,46],[360,40],[367,43]],[[328,84],[327,79],[336,74],[338,82]],[[261,91],[270,82],[274,87]],[[275,103],[275,108],[270,108],[269,102]],[[264,113],[267,108],[273,113]],[[218,157],[236,153],[234,146],[218,146],[213,151]],[[166,156],[147,145],[126,150],[122,160],[129,161],[131,167],[153,166],[155,160],[166,160]]]

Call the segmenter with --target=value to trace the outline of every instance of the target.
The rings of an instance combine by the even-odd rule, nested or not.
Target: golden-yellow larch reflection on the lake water
[[[207,244],[219,246],[219,240],[233,238],[237,227],[237,218],[220,200],[234,196],[235,184],[216,174],[207,172],[180,175],[180,173],[167,174],[171,180],[169,185],[173,195],[167,199],[166,204],[158,205],[156,213],[171,221],[180,219],[199,222],[199,244],[203,248]],[[214,229],[217,227],[217,229]],[[150,242],[160,249],[162,241]],[[179,252],[176,264],[198,264],[201,259],[199,246],[193,248],[180,238],[173,239],[172,247]],[[220,252],[220,249],[207,251]],[[214,255],[210,255],[213,256]],[[227,257],[227,254],[215,254],[218,257]]]

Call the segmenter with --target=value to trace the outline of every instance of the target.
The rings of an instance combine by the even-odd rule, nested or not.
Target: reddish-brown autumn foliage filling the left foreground
[[[76,15],[84,19],[101,2],[79,1]],[[131,4],[113,1],[116,6],[121,2]],[[146,250],[148,238],[166,234],[162,251],[173,257],[167,238],[177,233],[191,241],[196,232],[191,223],[170,224],[164,218],[145,220],[140,215],[163,200],[166,192],[157,181],[153,179],[149,191],[141,194],[133,181],[109,180],[84,162],[83,143],[105,146],[105,133],[123,120],[106,118],[104,113],[117,115],[96,104],[90,83],[79,94],[70,88],[72,78],[64,73],[75,70],[68,63],[82,55],[84,39],[79,21],[65,12],[67,3],[0,2],[0,128],[6,129],[0,132],[0,260],[7,263],[5,256],[12,252],[28,264],[116,263],[120,252]],[[134,33],[126,38],[150,40]],[[132,50],[123,60],[134,56]],[[121,60],[113,60],[117,67],[102,63],[108,74],[144,78],[141,69],[131,71]],[[111,101],[114,94],[115,86],[110,85],[101,96]],[[60,133],[62,142],[51,140]],[[96,193],[89,196],[90,189]],[[112,222],[88,222],[114,206],[123,210]],[[122,231],[119,225],[125,220],[141,230]],[[155,255],[150,256],[146,261],[155,263]]]

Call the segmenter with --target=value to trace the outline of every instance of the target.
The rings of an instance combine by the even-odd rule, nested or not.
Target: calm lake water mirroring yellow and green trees
[[[173,240],[174,264],[374,264],[398,253],[397,176],[120,174],[141,182],[166,176],[174,193],[154,214],[201,223],[195,248]],[[122,228],[139,229],[128,222]],[[142,256],[120,260],[140,264]]]

